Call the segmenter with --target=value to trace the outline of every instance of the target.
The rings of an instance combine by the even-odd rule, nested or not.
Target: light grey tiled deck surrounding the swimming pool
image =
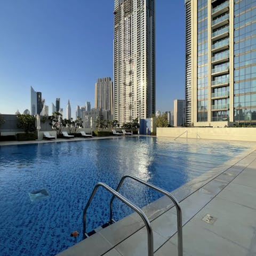
[[[28,143],[15,142],[4,145]],[[1,145],[3,142],[0,142]],[[201,182],[188,183],[172,192],[182,209],[183,255],[256,255],[255,148],[233,162],[223,164],[214,175],[207,175]],[[176,211],[170,200],[164,196],[142,210],[154,230],[154,255],[178,255]],[[211,215],[212,222],[203,220],[206,214]],[[96,234],[58,254],[82,255],[148,255],[147,231],[139,215],[133,213],[99,229]]]

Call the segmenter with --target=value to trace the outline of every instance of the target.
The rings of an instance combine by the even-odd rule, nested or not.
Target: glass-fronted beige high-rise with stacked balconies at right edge
[[[186,0],[185,6],[187,122],[256,123],[256,1]]]

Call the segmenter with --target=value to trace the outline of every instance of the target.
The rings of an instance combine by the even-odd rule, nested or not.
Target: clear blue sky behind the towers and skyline
[[[114,0],[0,0],[0,113],[30,110],[30,86],[51,102],[94,107],[97,78],[113,79]],[[156,110],[185,98],[183,0],[156,0]]]

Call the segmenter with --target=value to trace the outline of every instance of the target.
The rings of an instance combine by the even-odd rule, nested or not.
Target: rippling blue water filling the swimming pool
[[[55,255],[75,244],[74,230],[81,241],[83,209],[99,181],[116,188],[133,174],[172,191],[247,149],[210,144],[136,137],[0,147],[0,255]],[[161,196],[131,180],[121,193],[141,207]],[[109,198],[98,190],[87,230],[108,221]],[[114,219],[129,213],[114,202]]]

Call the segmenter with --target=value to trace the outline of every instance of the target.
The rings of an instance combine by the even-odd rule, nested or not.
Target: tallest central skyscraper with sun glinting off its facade
[[[155,0],[115,0],[114,119],[155,114]]]

